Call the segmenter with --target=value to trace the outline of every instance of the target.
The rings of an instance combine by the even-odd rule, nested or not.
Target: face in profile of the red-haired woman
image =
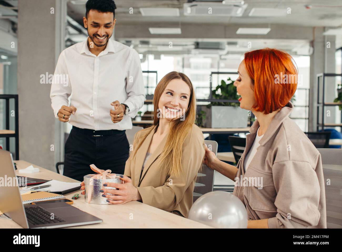
[[[252,110],[254,104],[257,103],[254,97],[254,91],[252,89],[252,79],[249,77],[248,72],[245,67],[245,60],[242,60],[239,69],[238,69],[239,77],[234,82],[234,86],[236,86],[236,90],[240,101],[240,108]]]

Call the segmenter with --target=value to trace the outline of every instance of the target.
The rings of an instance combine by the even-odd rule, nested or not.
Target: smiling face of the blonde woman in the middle
[[[181,79],[171,80],[159,99],[160,118],[171,120],[182,117],[188,108],[189,99],[189,86]]]

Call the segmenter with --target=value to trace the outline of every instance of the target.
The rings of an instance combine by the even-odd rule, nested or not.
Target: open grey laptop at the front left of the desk
[[[23,228],[62,228],[102,222],[65,202],[23,205],[18,183],[7,184],[17,180],[12,154],[0,149],[0,160],[0,179],[4,182],[0,184],[0,210]]]

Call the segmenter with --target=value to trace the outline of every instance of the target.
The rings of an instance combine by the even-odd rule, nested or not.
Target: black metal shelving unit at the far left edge
[[[10,151],[10,137],[15,138],[15,158],[19,160],[19,118],[18,118],[18,95],[0,95],[5,100],[6,124],[5,129],[0,130],[0,137],[6,138],[6,151]],[[10,130],[10,99],[14,99],[15,130]]]

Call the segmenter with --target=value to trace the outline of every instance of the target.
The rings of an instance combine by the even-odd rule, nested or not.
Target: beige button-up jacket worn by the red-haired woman
[[[275,115],[245,174],[244,161],[257,130],[255,120],[238,161],[233,194],[246,206],[249,220],[267,219],[269,228],[326,228],[321,156],[289,118],[289,102]]]

